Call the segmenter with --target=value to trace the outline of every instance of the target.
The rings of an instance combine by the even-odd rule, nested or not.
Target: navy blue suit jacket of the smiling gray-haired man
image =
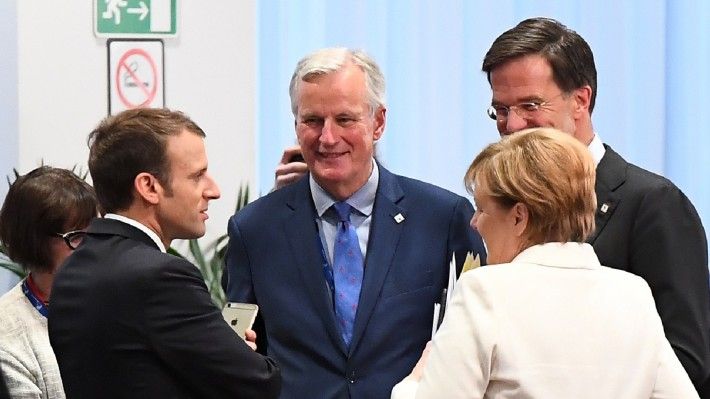
[[[268,354],[283,374],[282,398],[389,398],[431,337],[452,253],[485,256],[468,225],[470,202],[379,171],[350,350],[323,276],[308,176],[229,221],[227,296],[259,305]]]

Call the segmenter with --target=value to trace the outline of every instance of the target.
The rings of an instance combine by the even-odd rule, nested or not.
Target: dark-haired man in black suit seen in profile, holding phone
[[[205,233],[219,188],[204,132],[180,112],[136,109],[89,136],[105,218],[54,281],[49,336],[70,398],[275,398],[281,377],[214,306],[200,272],[169,254]],[[250,348],[250,346],[252,348]]]

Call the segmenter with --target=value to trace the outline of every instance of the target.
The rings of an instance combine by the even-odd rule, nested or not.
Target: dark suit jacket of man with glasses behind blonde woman
[[[666,336],[698,386],[710,372],[707,241],[700,217],[668,179],[626,162],[606,146],[597,166],[599,261],[643,277]]]

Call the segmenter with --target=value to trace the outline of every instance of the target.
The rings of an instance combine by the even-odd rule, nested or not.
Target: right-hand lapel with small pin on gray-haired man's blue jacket
[[[375,205],[372,212],[372,224],[367,244],[365,258],[365,273],[360,291],[353,338],[350,344],[352,353],[357,347],[372,316],[372,312],[380,297],[380,291],[385,277],[394,261],[399,237],[402,233],[407,212],[397,204],[403,197],[401,187],[396,177],[382,166],[380,182],[375,195]],[[397,216],[401,215],[401,216]]]

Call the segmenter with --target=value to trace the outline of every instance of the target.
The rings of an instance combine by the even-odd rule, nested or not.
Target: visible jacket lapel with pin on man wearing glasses
[[[611,215],[619,206],[621,197],[616,193],[616,190],[626,181],[626,169],[628,168],[628,163],[611,147],[605,144],[604,148],[606,152],[597,165],[597,180],[594,183],[594,191],[597,194],[597,211],[594,215],[596,227],[594,233],[587,239],[590,244],[593,244],[599,237]]]

